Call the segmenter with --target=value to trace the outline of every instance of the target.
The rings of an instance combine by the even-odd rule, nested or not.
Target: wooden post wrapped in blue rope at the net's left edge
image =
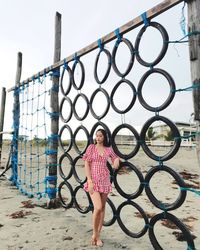
[[[13,104],[13,140],[12,140],[12,176],[11,181],[17,185],[18,179],[18,135],[19,135],[19,118],[20,118],[20,102],[19,102],[19,86],[22,72],[22,53],[17,54],[17,71],[15,78],[14,104]]]

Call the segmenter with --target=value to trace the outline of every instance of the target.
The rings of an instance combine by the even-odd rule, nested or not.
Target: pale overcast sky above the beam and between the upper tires
[[[6,89],[14,86],[18,52],[23,54],[22,81],[52,65],[56,11],[62,15],[61,59],[63,59],[161,2],[162,0],[0,0],[0,86],[6,87]],[[182,7],[183,3],[180,3],[153,19],[153,21],[160,22],[168,30],[170,40],[178,40],[183,37],[180,27]],[[187,7],[185,8],[185,16],[187,25]],[[139,29],[135,33],[130,32],[125,36],[134,41]],[[152,49],[145,44],[143,46],[143,53],[147,58],[148,56],[153,57],[153,49],[158,50],[160,46],[159,42],[154,42],[157,34],[155,32],[152,32],[152,34],[149,35],[149,39],[153,41],[151,43]],[[112,46],[113,44],[110,47],[108,45],[108,48],[112,49]],[[167,70],[173,76],[177,88],[190,86],[188,44],[169,45],[166,59],[159,63],[158,67]],[[134,72],[129,76],[130,80],[134,81],[137,86],[137,82],[145,71],[147,71],[147,68],[142,69],[136,64]],[[89,81],[90,77],[88,78]],[[107,83],[108,88],[109,86]],[[158,87],[158,84],[155,88],[154,93],[156,92],[157,96],[151,99],[159,100],[165,94],[163,88]],[[146,92],[150,93],[151,88],[147,88]],[[11,94],[8,93],[7,109],[10,98],[12,98]],[[119,99],[122,100],[123,98],[119,95]],[[152,100],[148,101],[151,102]],[[141,115],[141,112],[143,115]],[[135,114],[127,115],[126,121],[131,123],[134,120],[135,126],[141,126],[147,118],[153,115],[149,112],[146,112],[148,115],[145,115],[145,112],[143,113],[143,111],[135,108]],[[191,92],[181,92],[181,94],[176,94],[174,106],[168,108],[162,114],[169,116],[174,121],[189,122],[192,112]],[[9,111],[6,111],[6,116],[11,118]],[[117,122],[118,120],[116,120]],[[6,123],[5,126],[9,127],[9,124]]]

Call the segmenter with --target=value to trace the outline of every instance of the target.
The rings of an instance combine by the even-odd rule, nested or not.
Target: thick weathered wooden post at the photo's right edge
[[[200,32],[200,0],[188,0],[188,32]],[[192,84],[200,84],[200,34],[189,37]],[[193,89],[194,119],[197,123],[197,157],[200,166],[200,88]]]

